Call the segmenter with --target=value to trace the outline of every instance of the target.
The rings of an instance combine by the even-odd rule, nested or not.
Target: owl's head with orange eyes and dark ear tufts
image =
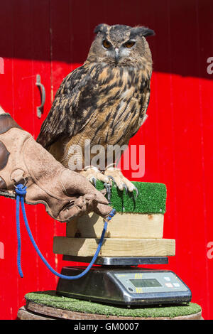
[[[108,26],[99,24],[94,29],[97,34],[89,50],[87,60],[96,63],[136,65],[142,60],[151,61],[151,51],[146,41],[154,31],[143,26]]]

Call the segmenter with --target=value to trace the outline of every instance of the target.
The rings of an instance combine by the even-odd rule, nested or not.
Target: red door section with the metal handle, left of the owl
[[[49,1],[1,1],[0,53],[4,61],[4,74],[0,75],[0,103],[35,138],[53,99],[51,79],[55,73],[50,62],[49,5]],[[36,107],[40,105],[40,91],[35,85],[38,74],[46,95],[40,119],[36,112]],[[18,276],[15,201],[1,198],[0,205],[0,241],[4,244],[4,259],[0,262],[0,318],[13,319],[27,291],[55,289],[57,280],[38,260],[24,229],[21,230],[24,277],[21,279]],[[40,249],[50,264],[58,268],[58,258],[53,254],[53,235],[60,233],[60,227],[64,228],[65,225],[50,219],[43,205],[28,205],[26,210]],[[39,237],[41,235],[43,237]],[[43,277],[46,279],[43,280]]]

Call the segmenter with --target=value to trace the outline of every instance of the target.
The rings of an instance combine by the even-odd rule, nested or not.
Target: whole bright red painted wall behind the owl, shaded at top
[[[94,26],[141,24],[155,30],[148,39],[154,68],[148,120],[130,143],[146,146],[146,173],[136,181],[167,185],[163,237],[176,239],[176,255],[163,268],[190,286],[205,319],[213,318],[213,66],[207,72],[212,17],[211,0],[0,0],[0,104],[35,137],[63,77],[85,60]],[[46,90],[41,119],[36,74]],[[131,171],[125,174],[131,178]],[[15,319],[25,293],[55,289],[58,279],[35,255],[23,229],[19,278],[15,203],[1,198],[0,208],[0,318]],[[28,206],[27,214],[38,246],[60,271],[64,262],[53,254],[53,235],[65,235],[65,224],[52,220],[43,205]]]

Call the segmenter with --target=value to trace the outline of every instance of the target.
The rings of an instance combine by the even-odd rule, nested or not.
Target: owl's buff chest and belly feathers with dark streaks
[[[143,77],[140,72],[105,69],[96,85],[96,103],[84,131],[95,144],[114,143],[130,136],[141,125]]]

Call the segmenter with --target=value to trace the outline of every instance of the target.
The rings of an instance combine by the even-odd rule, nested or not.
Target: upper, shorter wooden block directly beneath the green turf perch
[[[107,226],[105,237],[146,239],[163,237],[162,214],[117,213]],[[104,220],[96,213],[89,213],[67,223],[67,237],[80,233],[83,238],[99,238],[102,235]]]

